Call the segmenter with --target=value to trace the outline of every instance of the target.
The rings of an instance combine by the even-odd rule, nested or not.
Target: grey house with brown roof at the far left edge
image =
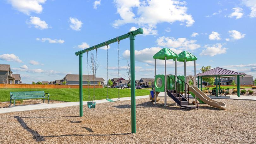
[[[16,80],[16,81],[15,81]],[[0,84],[20,84],[19,74],[13,74],[9,64],[0,64]]]

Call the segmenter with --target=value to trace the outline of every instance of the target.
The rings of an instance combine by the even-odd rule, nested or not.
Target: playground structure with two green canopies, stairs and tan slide
[[[164,106],[166,106],[167,95],[171,97],[180,108],[198,108],[198,103],[206,103],[218,109],[225,109],[226,105],[223,102],[217,102],[204,94],[196,87],[196,60],[197,57],[188,51],[183,51],[179,55],[168,48],[163,48],[157,52],[153,58],[155,59],[155,89],[154,95],[157,92],[164,92]],[[156,59],[165,60],[165,74],[156,75]],[[175,75],[166,75],[166,61],[173,59],[175,61]],[[177,61],[184,62],[184,76],[177,76]],[[186,62],[194,61],[194,76],[186,76]],[[189,86],[189,80],[193,81],[193,86]],[[189,93],[195,98],[194,105],[189,105]],[[155,104],[156,104],[156,97]],[[151,98],[150,98],[151,99]]]

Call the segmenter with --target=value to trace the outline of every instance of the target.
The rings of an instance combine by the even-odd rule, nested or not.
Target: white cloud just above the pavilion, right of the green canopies
[[[209,45],[205,45],[204,46],[206,49],[204,49],[202,51],[202,53],[200,53],[200,56],[215,56],[217,54],[223,54],[223,53],[227,53],[227,48],[222,47],[222,44],[217,43],[215,45],[209,46]]]

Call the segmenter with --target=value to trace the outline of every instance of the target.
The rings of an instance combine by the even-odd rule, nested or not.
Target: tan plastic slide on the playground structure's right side
[[[213,99],[211,99],[210,97],[208,97],[203,91],[201,91],[199,88],[197,87],[189,87],[189,91],[191,91],[192,93],[194,93],[197,97],[200,98],[200,100],[202,100],[204,103],[216,107],[218,109],[225,109],[226,108],[226,104],[223,102],[217,102]]]

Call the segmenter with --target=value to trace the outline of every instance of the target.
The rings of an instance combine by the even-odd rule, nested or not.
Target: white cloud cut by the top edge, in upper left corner
[[[40,14],[43,11],[41,4],[44,4],[46,0],[8,0],[8,2],[16,10],[29,15],[31,12]]]

